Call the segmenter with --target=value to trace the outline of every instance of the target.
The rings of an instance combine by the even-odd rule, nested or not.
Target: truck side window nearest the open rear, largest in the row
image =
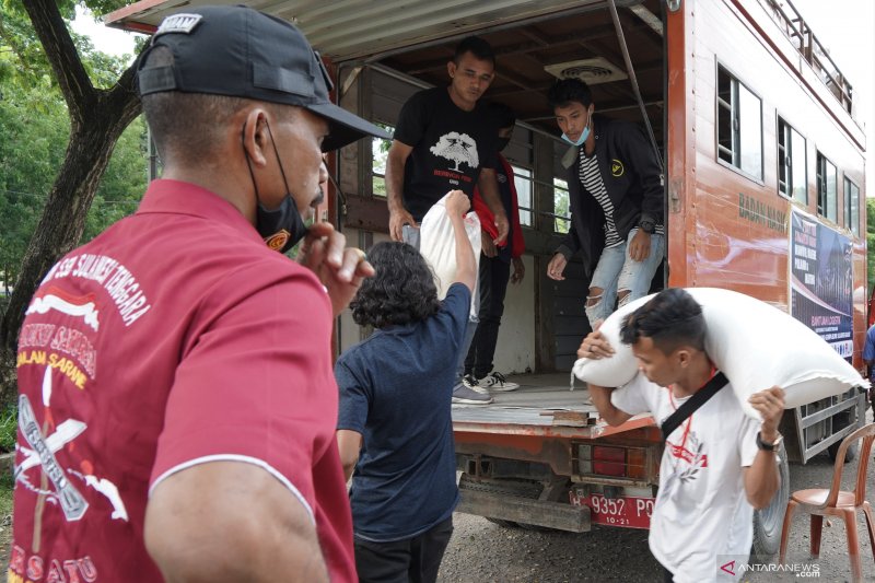
[[[762,102],[718,67],[718,158],[762,179]]]

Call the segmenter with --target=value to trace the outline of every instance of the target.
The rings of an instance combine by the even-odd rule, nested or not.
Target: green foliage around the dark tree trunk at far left
[[[28,32],[26,18],[5,4],[2,10],[0,42],[7,50],[0,49],[0,294],[8,294],[63,162],[70,118],[45,55],[35,50],[39,43]],[[125,70],[124,60],[96,50],[86,37],[72,37],[95,85],[112,86]],[[137,209],[147,183],[145,140],[141,118],[119,138],[85,219],[83,241]]]

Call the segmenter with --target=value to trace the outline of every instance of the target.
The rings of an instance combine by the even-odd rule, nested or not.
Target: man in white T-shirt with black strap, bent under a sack
[[[619,425],[650,411],[662,423],[702,389],[718,374],[704,337],[701,306],[679,288],[660,292],[630,314],[620,338],[632,347],[641,374],[616,389],[590,385],[605,421]],[[596,330],[578,355],[598,359],[612,352]],[[745,416],[726,385],[667,436],[650,530],[650,548],[666,581],[734,581],[740,575],[721,570],[720,559],[746,560],[754,509],[767,506],[780,486],[783,395],[775,386],[748,399],[760,422]]]

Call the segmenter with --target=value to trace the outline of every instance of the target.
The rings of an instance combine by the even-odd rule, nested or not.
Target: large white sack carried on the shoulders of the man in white
[[[745,412],[754,393],[780,386],[784,407],[793,409],[870,383],[814,330],[791,315],[743,293],[718,288],[688,288],[702,306],[708,325],[705,351],[730,380]],[[653,295],[641,298],[608,316],[599,328],[614,347],[608,359],[579,359],[574,375],[598,386],[622,386],[638,374],[632,348],[620,341],[628,314]]]

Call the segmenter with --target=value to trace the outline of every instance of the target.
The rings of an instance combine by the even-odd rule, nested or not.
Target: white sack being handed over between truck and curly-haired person
[[[446,196],[435,202],[422,218],[419,230],[419,252],[429,261],[434,272],[434,284],[438,287],[438,299],[446,298],[450,285],[456,277],[456,240],[453,223],[446,214]],[[480,263],[480,219],[477,213],[465,215],[465,232],[474,248],[474,258]],[[479,271],[479,269],[478,269]],[[474,289],[477,289],[475,282]],[[478,302],[471,302],[470,314],[477,317]]]

